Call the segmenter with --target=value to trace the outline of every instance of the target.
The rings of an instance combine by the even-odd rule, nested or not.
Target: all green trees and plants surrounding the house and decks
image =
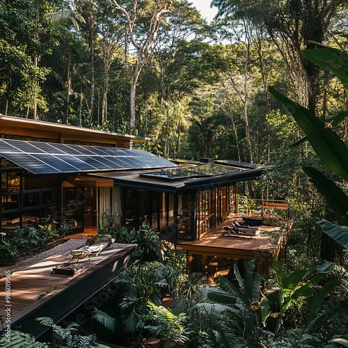
[[[167,158],[274,164],[239,196],[246,212],[287,201],[287,258],[268,279],[248,262],[238,284],[209,287],[156,231],[104,212],[99,232],[137,244],[136,263],[79,308],[83,327],[43,322],[66,347],[347,347],[347,1],[214,0],[212,24],[189,1],[132,2],[0,2],[0,112],[150,136]],[[56,237],[2,235],[1,260]]]

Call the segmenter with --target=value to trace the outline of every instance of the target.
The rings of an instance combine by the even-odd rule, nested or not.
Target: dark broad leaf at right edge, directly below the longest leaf
[[[348,225],[348,196],[332,180],[315,168],[303,167],[303,171],[310,177],[310,181],[322,193],[330,207],[342,219],[342,222]]]

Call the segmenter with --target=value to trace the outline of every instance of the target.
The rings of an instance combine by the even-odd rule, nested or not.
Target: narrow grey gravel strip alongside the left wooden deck
[[[9,264],[5,267],[0,267],[0,278],[3,278],[3,276],[5,276],[5,271],[7,270],[10,270],[11,273],[13,273],[15,271],[19,271],[26,267],[29,267],[31,266],[31,264],[35,264],[36,262],[48,258],[49,256],[69,253],[70,250],[78,249],[85,245],[86,240],[84,239],[68,239],[67,242],[58,244],[57,246],[54,246],[53,248],[47,251],[43,251],[42,253],[38,253],[37,255],[22,258],[22,260],[19,259],[14,264]]]

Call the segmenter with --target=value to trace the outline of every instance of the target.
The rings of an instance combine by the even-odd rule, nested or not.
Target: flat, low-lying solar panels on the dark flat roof
[[[202,166],[189,166],[180,168],[168,168],[164,171],[141,173],[143,177],[155,177],[166,180],[177,180],[187,177],[207,177],[215,175],[230,174],[240,172],[245,169],[223,166],[219,164],[203,164]]]

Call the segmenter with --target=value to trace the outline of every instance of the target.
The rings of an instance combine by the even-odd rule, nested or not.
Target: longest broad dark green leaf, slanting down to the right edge
[[[308,141],[324,164],[334,173],[348,180],[348,148],[340,137],[303,106],[269,86],[269,92],[292,113]]]

